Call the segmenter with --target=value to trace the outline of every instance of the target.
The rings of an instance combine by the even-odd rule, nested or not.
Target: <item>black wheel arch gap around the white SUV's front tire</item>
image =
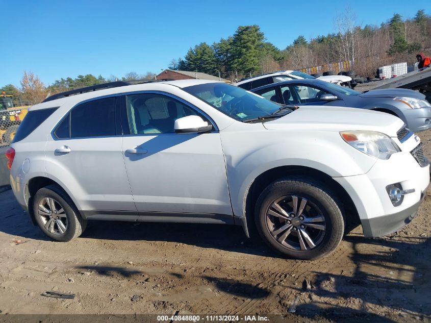
[[[307,166],[279,166],[261,173],[255,178],[246,191],[246,196],[244,198],[245,218],[243,218],[245,223],[243,223],[243,227],[247,236],[250,236],[250,233],[254,235],[253,233],[256,231],[253,217],[259,195],[272,182],[289,176],[301,176],[329,188],[329,190],[336,195],[334,197],[337,198],[344,209],[346,216],[346,232],[349,232],[361,223],[358,210],[350,198],[350,195],[331,176],[321,170]]]

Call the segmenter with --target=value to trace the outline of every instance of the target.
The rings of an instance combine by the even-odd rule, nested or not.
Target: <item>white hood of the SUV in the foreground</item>
[[[268,130],[368,130],[390,137],[396,137],[396,132],[403,125],[401,119],[384,112],[327,106],[301,106],[281,118],[263,122]]]

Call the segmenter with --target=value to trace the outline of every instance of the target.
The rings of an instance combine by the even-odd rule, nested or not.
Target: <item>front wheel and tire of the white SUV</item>
[[[312,260],[328,255],[344,234],[343,213],[333,196],[323,185],[309,179],[277,180],[263,190],[256,202],[257,230],[267,244],[286,256]],[[295,197],[298,214],[293,208]],[[300,213],[303,201],[305,207]]]

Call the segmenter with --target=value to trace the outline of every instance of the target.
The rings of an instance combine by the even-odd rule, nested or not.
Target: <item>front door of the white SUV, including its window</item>
[[[126,95],[122,107],[130,133],[122,153],[139,214],[232,218],[220,135],[209,117],[164,93]],[[176,134],[175,120],[188,115],[212,122],[214,131]]]

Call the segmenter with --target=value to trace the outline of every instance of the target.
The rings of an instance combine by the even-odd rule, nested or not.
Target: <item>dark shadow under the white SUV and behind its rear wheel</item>
[[[33,225],[29,214],[18,205],[12,191],[3,192],[0,196],[1,232],[28,239],[50,241],[39,227]],[[281,257],[272,252],[259,237],[247,239],[241,227],[230,225],[93,220],[88,221],[88,227],[81,237],[125,241],[168,241],[244,254]]]

